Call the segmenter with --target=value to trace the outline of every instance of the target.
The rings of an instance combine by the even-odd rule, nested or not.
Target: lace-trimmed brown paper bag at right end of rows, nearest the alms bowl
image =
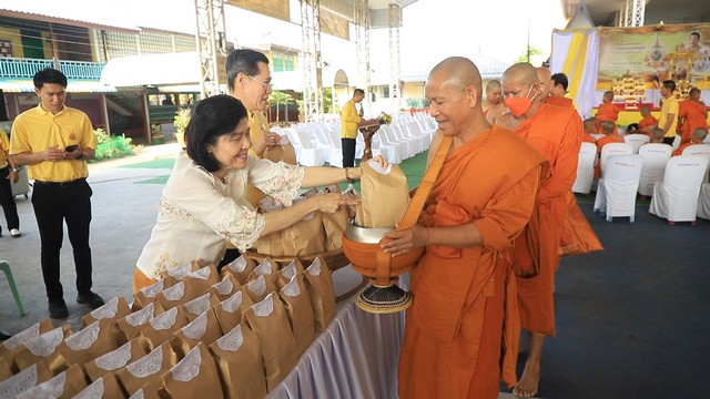
[[[306,278],[306,290],[311,298],[315,331],[322,332],[335,318],[335,288],[331,270],[321,256],[313,259],[303,276]]]

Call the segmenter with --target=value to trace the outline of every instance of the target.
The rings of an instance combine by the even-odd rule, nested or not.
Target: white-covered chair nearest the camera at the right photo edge
[[[649,212],[676,222],[696,224],[700,186],[708,168],[704,156],[679,155],[668,160],[663,180],[653,186]]]

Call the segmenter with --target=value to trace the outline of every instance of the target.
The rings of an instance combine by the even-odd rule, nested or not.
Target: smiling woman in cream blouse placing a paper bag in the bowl
[[[298,188],[359,178],[359,167],[303,167],[254,158],[248,155],[248,131],[246,109],[232,96],[211,96],[194,109],[185,131],[187,154],[178,157],[163,188],[158,221],[136,263],[134,291],[191,260],[216,265],[225,239],[244,252],[261,235],[288,227],[311,212],[334,213],[351,204],[333,193],[292,206]],[[386,167],[382,157],[377,161]],[[243,198],[247,183],[285,207],[257,213]]]

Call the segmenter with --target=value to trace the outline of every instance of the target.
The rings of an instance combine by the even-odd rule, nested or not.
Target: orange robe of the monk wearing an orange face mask
[[[516,132],[550,163],[550,177],[538,196],[537,212],[518,238],[518,268],[536,265],[534,277],[517,277],[520,325],[528,331],[555,336],[552,290],[559,262],[559,243],[567,216],[567,196],[577,178],[582,124],[570,109],[544,104]]]

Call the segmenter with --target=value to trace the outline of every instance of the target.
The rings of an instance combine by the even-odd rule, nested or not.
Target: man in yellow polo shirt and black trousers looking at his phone
[[[67,223],[77,269],[77,301],[91,308],[103,299],[91,291],[91,187],[87,160],[94,157],[94,136],[85,113],[65,106],[67,76],[48,68],[34,74],[40,103],[18,115],[12,124],[10,154],[29,165],[34,180],[32,207],[40,231],[42,276],[49,316],[69,316],[60,283],[59,254]]]

